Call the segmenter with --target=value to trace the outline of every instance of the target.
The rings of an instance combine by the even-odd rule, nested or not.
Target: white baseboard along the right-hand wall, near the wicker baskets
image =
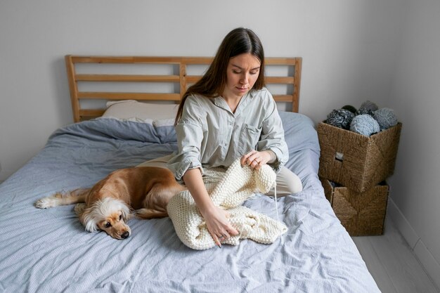
[[[422,264],[423,268],[429,278],[431,278],[434,285],[440,288],[440,264],[434,259],[429,249],[425,246],[425,243],[420,239],[415,230],[410,225],[408,220],[403,216],[400,209],[393,202],[392,198],[388,198],[388,210],[387,215],[392,219],[394,225],[405,238],[408,245],[413,250],[415,257]]]

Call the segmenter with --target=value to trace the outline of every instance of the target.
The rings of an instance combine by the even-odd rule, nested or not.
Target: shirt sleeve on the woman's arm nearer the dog
[[[200,168],[200,147],[203,139],[204,126],[200,116],[204,115],[197,100],[193,96],[186,99],[182,117],[176,124],[178,150],[168,162],[168,168],[177,180],[181,180],[188,169]]]

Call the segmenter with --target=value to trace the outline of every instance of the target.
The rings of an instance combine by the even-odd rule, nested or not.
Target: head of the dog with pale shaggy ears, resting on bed
[[[125,223],[130,218],[130,209],[122,200],[105,197],[94,202],[79,214],[79,220],[89,232],[103,230],[115,239],[125,239],[131,234]]]

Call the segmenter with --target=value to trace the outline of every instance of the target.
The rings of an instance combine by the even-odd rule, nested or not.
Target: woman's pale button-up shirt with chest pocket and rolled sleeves
[[[229,167],[251,150],[272,150],[276,171],[289,158],[283,124],[267,89],[248,92],[235,113],[224,98],[188,96],[176,134],[179,149],[168,167],[178,180],[188,169]]]

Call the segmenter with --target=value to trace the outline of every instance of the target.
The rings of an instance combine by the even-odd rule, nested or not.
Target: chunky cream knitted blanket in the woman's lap
[[[205,173],[209,172],[212,172],[211,176],[208,176],[207,181],[204,180],[209,196],[216,206],[228,211],[229,222],[239,232],[239,235],[231,236],[222,243],[238,245],[240,239],[248,238],[269,244],[287,231],[284,223],[241,205],[254,192],[267,193],[273,188],[276,174],[271,167],[264,165],[257,171],[249,166],[241,167],[240,159],[237,159],[226,172]],[[220,179],[212,182],[212,176],[219,176]],[[174,196],[168,203],[167,211],[183,244],[192,249],[209,249],[215,246],[188,190]]]

